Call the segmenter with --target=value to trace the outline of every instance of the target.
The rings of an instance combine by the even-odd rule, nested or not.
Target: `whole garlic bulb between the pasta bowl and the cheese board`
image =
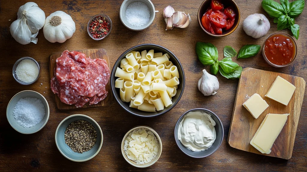
[[[205,69],[203,70],[203,76],[197,83],[198,90],[205,96],[216,94],[219,90],[220,83],[216,76],[210,75]]]

